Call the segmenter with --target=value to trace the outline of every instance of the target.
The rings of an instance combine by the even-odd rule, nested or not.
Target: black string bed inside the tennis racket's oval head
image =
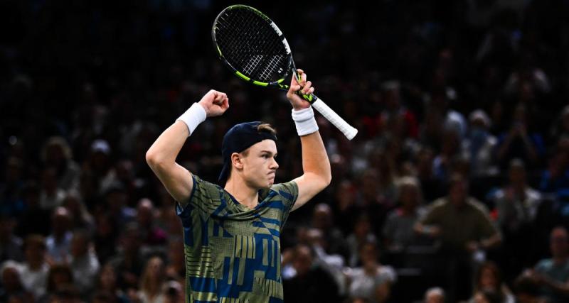
[[[275,82],[288,73],[282,37],[253,11],[233,9],[220,16],[216,39],[230,65],[252,79]]]

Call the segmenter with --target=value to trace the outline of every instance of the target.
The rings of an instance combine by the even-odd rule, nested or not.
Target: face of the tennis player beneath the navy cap
[[[234,154],[235,155],[235,154]],[[277,157],[277,143],[266,139],[251,145],[245,153],[239,154],[238,171],[245,182],[253,188],[269,188],[275,183],[275,174],[279,165]]]

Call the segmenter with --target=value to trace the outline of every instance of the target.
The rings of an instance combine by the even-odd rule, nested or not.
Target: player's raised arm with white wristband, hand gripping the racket
[[[331,181],[330,161],[326,154],[326,148],[318,132],[318,126],[314,120],[314,113],[310,104],[296,94],[302,89],[303,94],[314,92],[312,82],[307,81],[307,75],[302,70],[298,70],[301,76],[301,83],[294,77],[287,98],[292,104],[292,117],[297,126],[302,145],[302,176],[294,179],[298,185],[298,197],[292,210],[299,208],[308,202],[312,197],[326,188]]]

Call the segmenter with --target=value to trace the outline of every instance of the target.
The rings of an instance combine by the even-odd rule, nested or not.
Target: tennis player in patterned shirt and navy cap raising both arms
[[[314,92],[298,70],[287,98],[302,143],[304,173],[274,184],[279,165],[275,129],[240,123],[225,134],[220,187],[176,163],[186,138],[207,117],[229,107],[223,92],[211,90],[162,133],[147,162],[176,199],[184,226],[188,302],[283,302],[280,233],[289,211],[304,205],[331,181],[330,163],[312,107],[295,92]]]

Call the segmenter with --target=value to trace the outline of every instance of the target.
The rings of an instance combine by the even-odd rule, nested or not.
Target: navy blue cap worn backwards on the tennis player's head
[[[272,140],[277,142],[277,136],[268,131],[258,131],[257,126],[263,122],[245,122],[240,123],[225,133],[223,143],[221,143],[221,156],[223,157],[223,169],[219,175],[218,182],[221,186],[225,185],[229,172],[231,171],[231,155],[233,153],[241,153],[243,150],[250,148],[251,145],[259,143],[263,140]]]

